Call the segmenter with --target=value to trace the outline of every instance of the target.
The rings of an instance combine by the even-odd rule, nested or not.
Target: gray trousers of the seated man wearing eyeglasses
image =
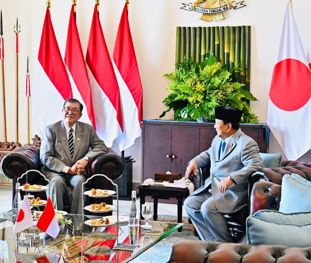
[[[61,174],[55,175],[50,180],[50,196],[53,198],[55,194],[56,203],[54,208],[57,210],[63,210],[63,196],[67,192],[70,213],[71,214],[82,214],[82,183],[87,180],[86,175],[70,175]],[[83,197],[85,198],[85,197]],[[84,199],[85,201],[85,199]]]

